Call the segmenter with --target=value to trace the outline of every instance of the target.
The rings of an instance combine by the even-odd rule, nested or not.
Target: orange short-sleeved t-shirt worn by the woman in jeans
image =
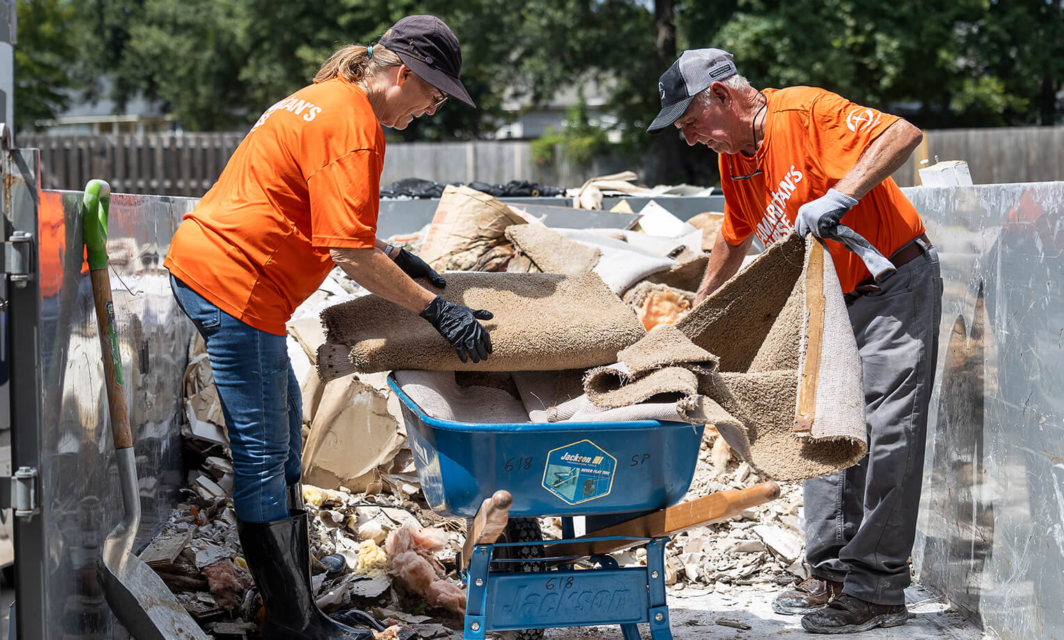
[[[284,335],[333,267],[376,245],[384,133],[358,85],[333,79],[266,110],[184,217],[163,265],[227,314]]]

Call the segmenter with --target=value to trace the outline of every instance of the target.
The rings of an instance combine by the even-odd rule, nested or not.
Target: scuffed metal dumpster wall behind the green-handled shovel
[[[82,266],[79,198],[41,191],[38,207],[44,637],[122,638],[96,579],[99,548],[121,518],[122,503],[93,290]],[[137,550],[157,533],[184,479],[178,416],[193,327],[177,307],[162,262],[195,202],[111,198],[111,282],[143,508]]]

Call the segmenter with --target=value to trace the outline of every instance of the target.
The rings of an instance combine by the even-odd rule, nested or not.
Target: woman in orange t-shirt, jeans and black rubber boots
[[[408,16],[371,47],[336,51],[314,84],[266,110],[217,184],[185,216],[164,265],[206,342],[233,451],[240,544],[263,596],[263,637],[371,638],[314,605],[299,500],[299,382],[285,321],[338,265],[369,291],[419,314],[463,361],[486,358],[492,314],[414,282],[444,279],[376,238],[384,134],[432,115],[462,86],[462,52],[433,16]],[[290,504],[289,504],[290,499]]]

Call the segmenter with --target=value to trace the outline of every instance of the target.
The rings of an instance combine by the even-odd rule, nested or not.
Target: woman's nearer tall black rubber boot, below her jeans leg
[[[266,609],[263,640],[373,640],[371,630],[342,625],[314,604],[306,511],[272,522],[237,520],[236,532]]]

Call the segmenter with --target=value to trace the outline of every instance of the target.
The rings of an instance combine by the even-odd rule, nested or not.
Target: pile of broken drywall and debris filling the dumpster
[[[572,195],[578,206],[594,208],[610,189],[642,193],[628,184],[632,178],[603,176]],[[706,213],[683,222],[651,203],[656,208],[648,205],[638,229],[514,233],[506,229],[541,223],[527,214],[502,210],[489,197],[448,188],[449,206],[471,213],[463,218],[454,210],[437,210],[433,224],[389,241],[415,252],[427,249],[427,259],[442,268],[594,269],[647,329],[675,322],[692,308],[705,251],[721,218]],[[666,231],[651,235],[651,230]],[[547,243],[536,245],[544,239]],[[558,242],[581,251],[549,251]],[[320,311],[366,293],[337,268],[288,325],[289,356],[303,381],[303,501],[312,591],[318,606],[339,620],[364,611],[383,623],[386,628],[378,638],[450,636],[462,628],[465,610],[455,555],[466,522],[428,508],[406,448],[398,399],[385,382],[387,372],[322,383],[315,371],[325,340]],[[190,348],[185,394],[185,459],[195,466],[188,473],[187,500],[140,557],[207,633],[253,637],[261,600],[236,535],[225,421],[198,336]],[[687,499],[760,482],[746,462],[732,459],[716,430],[708,426],[705,433]],[[676,536],[667,546],[670,593],[725,593],[742,585],[804,577],[800,485],[781,483],[781,488],[780,499],[738,519]],[[539,523],[546,538],[561,537],[559,519]],[[646,563],[642,549],[615,555],[621,566]],[[356,617],[350,619],[361,624]]]

